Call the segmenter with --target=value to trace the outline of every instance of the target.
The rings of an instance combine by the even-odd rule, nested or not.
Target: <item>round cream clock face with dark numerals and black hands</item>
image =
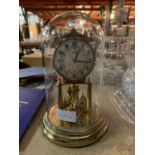
[[[53,65],[65,79],[78,81],[94,68],[95,53],[84,40],[72,38],[62,42],[55,50]]]

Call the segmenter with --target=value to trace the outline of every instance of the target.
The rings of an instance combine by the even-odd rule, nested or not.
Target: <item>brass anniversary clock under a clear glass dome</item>
[[[102,103],[94,99],[98,89],[92,77],[102,34],[99,24],[80,12],[56,16],[43,31],[47,105],[43,133],[53,143],[82,147],[107,131],[106,115],[98,106]]]

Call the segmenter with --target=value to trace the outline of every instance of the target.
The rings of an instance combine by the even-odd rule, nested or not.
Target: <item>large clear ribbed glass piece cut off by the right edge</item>
[[[130,43],[129,43],[130,44]],[[133,42],[132,42],[133,45]],[[135,52],[128,51],[124,56],[128,69],[124,72],[121,85],[114,91],[114,106],[129,123],[135,123]]]

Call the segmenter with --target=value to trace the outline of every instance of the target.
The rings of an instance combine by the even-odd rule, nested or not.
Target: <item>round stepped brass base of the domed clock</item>
[[[107,131],[107,118],[95,107],[93,120],[90,125],[84,127],[62,127],[61,121],[56,118],[57,105],[50,111],[50,117],[46,112],[43,117],[43,133],[53,143],[64,147],[83,147],[99,140]]]

